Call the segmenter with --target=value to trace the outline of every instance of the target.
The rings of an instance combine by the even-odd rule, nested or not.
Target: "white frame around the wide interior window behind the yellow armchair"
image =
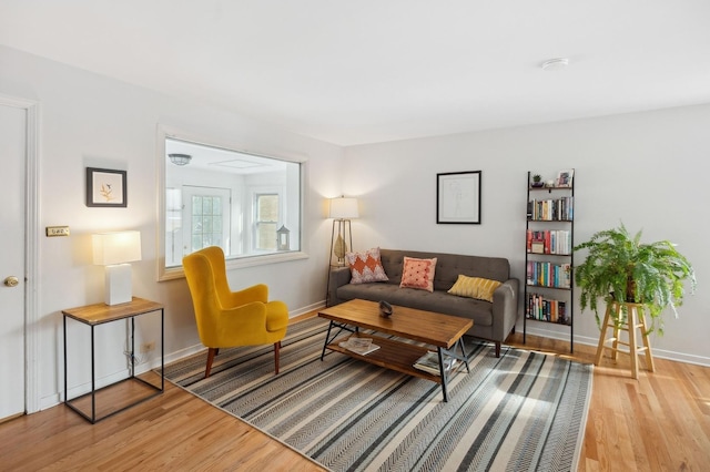
[[[226,268],[236,269],[236,268],[246,268],[246,267],[255,267],[263,266],[275,263],[283,263],[288,260],[298,260],[308,258],[308,254],[304,252],[304,239],[303,235],[307,234],[305,227],[305,214],[306,214],[306,187],[307,187],[307,165],[308,160],[304,156],[288,156],[284,155],[284,153],[278,152],[254,152],[243,150],[241,145],[235,145],[233,143],[221,143],[215,138],[205,138],[204,136],[195,136],[194,134],[186,133],[184,131],[176,130],[172,126],[160,124],[158,126],[156,132],[156,173],[158,173],[158,228],[156,228],[156,248],[158,255],[156,259],[156,279],[158,281],[164,280],[173,280],[179,278],[184,278],[185,274],[182,265],[174,267],[165,267],[165,227],[166,227],[166,212],[165,212],[165,140],[179,140],[185,141],[194,144],[200,144],[204,146],[219,147],[223,150],[234,151],[243,154],[251,154],[258,157],[273,158],[277,161],[284,161],[290,163],[298,164],[298,250],[288,250],[288,252],[274,252],[268,254],[250,254],[242,256],[230,256],[225,258]],[[250,193],[253,189],[248,191]],[[283,195],[280,195],[280,205],[283,206]],[[283,208],[281,208],[283,209]],[[251,223],[251,222],[250,222]],[[251,232],[247,232],[251,233]],[[253,237],[253,236],[251,236]],[[293,237],[293,236],[292,236]],[[232,243],[234,244],[234,243]],[[251,240],[247,242],[251,245]]]

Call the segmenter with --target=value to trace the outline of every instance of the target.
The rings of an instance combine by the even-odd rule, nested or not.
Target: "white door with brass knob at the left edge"
[[[24,413],[27,110],[0,104],[0,421]]]

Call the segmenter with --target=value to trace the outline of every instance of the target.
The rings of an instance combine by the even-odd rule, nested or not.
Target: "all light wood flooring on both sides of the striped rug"
[[[508,342],[521,345],[521,336]],[[528,349],[569,358],[568,343]],[[594,361],[576,346],[572,359]],[[595,368],[580,471],[710,471],[710,368],[656,360]],[[0,470],[324,470],[169,382],[165,393],[90,424],[64,404],[0,424]]]

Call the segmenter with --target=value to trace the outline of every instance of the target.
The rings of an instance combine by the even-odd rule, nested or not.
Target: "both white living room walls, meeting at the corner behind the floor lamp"
[[[91,265],[94,232],[141,230],[143,260],[133,266],[134,294],[166,307],[170,358],[197,348],[184,279],[156,281],[156,127],[233,143],[261,154],[307,156],[303,250],[310,258],[230,274],[233,286],[264,281],[292,315],[325,296],[331,222],[325,198],[361,198],[353,222],[356,249],[372,246],[504,256],[523,278],[526,172],[552,177],[576,168],[577,242],[617,225],[643,228],[648,240],[669,238],[693,263],[699,293],[655,338],[658,356],[710,365],[710,229],[704,205],[710,151],[710,105],[598,120],[342,148],[294,135],[246,116],[200,106],[74,68],[0,47],[0,93],[41,104],[40,229],[68,225],[68,238],[40,238],[38,277],[43,408],[63,389],[61,310],[99,302],[103,269]],[[128,208],[84,206],[84,167],[128,171]],[[436,174],[483,171],[483,224],[436,224]],[[295,280],[298,280],[296,283]],[[590,312],[577,316],[581,342],[596,342]],[[85,387],[88,332],[70,330],[70,389]],[[124,327],[100,334],[102,377],[124,368]],[[521,329],[521,320],[519,322]],[[542,326],[547,328],[547,326]],[[552,329],[555,327],[549,327]],[[549,336],[555,332],[540,331]],[[532,332],[532,331],[531,331]],[[156,338],[155,320],[139,324],[138,338]],[[154,361],[154,359],[149,359]]]

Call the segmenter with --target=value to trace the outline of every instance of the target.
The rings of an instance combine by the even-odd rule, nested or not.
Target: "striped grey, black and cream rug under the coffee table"
[[[470,372],[439,384],[342,353],[320,360],[327,322],[288,328],[281,373],[267,347],[206,355],[166,378],[334,471],[576,470],[591,366],[465,338]]]

